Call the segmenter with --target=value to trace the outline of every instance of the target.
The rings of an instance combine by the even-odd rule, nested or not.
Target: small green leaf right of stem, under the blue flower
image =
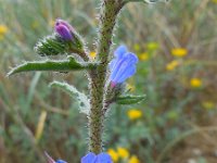
[[[120,97],[117,97],[116,103],[117,104],[136,104],[143,101],[144,98],[145,96],[131,96],[131,95],[120,96]]]

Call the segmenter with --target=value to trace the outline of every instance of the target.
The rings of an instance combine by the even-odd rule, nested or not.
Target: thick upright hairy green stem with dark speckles
[[[103,109],[105,78],[108,64],[110,47],[117,14],[120,10],[116,0],[103,0],[100,14],[100,34],[98,39],[98,60],[100,65],[90,72],[91,109],[89,115],[89,151],[102,152]]]

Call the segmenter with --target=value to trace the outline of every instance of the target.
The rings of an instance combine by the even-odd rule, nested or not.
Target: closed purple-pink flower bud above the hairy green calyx
[[[66,41],[73,40],[74,28],[63,20],[55,21],[55,33],[58,33]]]

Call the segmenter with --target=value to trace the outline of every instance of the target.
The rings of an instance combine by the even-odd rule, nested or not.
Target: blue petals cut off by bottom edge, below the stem
[[[95,155],[90,152],[87,155],[82,156],[81,163],[113,163],[112,158],[106,153],[100,153]]]

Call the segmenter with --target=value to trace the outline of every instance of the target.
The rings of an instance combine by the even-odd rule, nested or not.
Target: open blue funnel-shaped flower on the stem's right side
[[[119,46],[114,55],[115,58],[110,63],[112,87],[131,77],[137,72],[136,64],[138,63],[137,55],[129,52],[126,46]]]

